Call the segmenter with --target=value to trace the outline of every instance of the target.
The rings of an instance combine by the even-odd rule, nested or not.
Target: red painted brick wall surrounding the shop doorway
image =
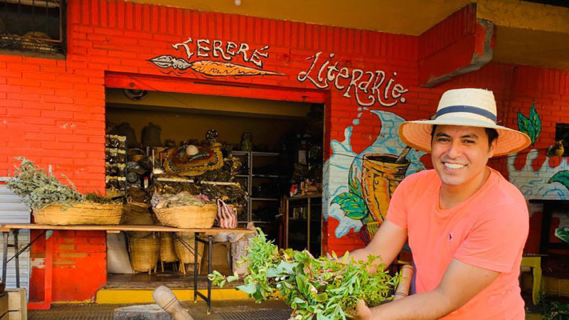
[[[338,61],[339,68],[383,70],[386,75],[396,72],[395,81],[409,89],[406,102],[391,108],[373,105],[371,109],[389,110],[405,119],[430,117],[447,88],[473,86],[494,90],[502,123],[509,127],[516,127],[516,112],[528,114],[531,102],[536,100],[538,112],[543,114],[542,134],[536,147],[545,148],[552,143],[555,122],[569,123],[569,116],[563,112],[569,102],[566,71],[491,63],[439,87],[424,88],[419,86],[420,37],[112,0],[70,0],[68,10],[65,58],[0,55],[0,175],[9,174],[16,163],[15,156],[26,156],[45,168],[51,165],[57,176],[65,174],[80,191],[102,191],[105,74],[108,78],[132,77],[134,87],[143,85],[136,75],[144,75],[144,85],[149,88],[162,88],[164,80],[206,80],[206,85],[172,87],[172,91],[179,92],[226,94],[223,87],[208,86],[207,82],[248,84],[252,89],[233,91],[246,97],[267,98],[267,90],[277,87],[279,92],[308,92],[306,97],[282,93],[273,98],[309,102],[324,99],[324,145],[329,156],[331,140],[344,140],[344,130],[359,111],[353,87],[351,97],[344,97],[345,90],[333,86],[319,90],[324,95],[311,95],[309,92],[316,90],[314,85],[297,80],[299,72],[309,68],[311,61],[307,58],[319,51],[324,52],[322,57],[334,53],[331,60]],[[452,23],[447,25],[452,28]],[[270,46],[263,69],[285,76],[208,78],[194,72],[166,75],[149,63],[157,55],[183,57],[171,45],[188,37],[194,41],[203,38],[246,42],[252,48]],[[436,45],[436,39],[430,41]],[[233,63],[250,65],[240,58]],[[349,87],[348,79],[340,83]],[[353,132],[353,149],[363,150],[371,144],[379,129],[376,118],[364,115]],[[504,159],[496,161],[495,166],[507,174]],[[330,178],[333,177],[332,171]],[[336,238],[338,222],[334,218],[325,225],[326,251],[341,253],[363,245],[357,233]],[[106,281],[105,234],[66,232],[54,233],[53,237],[53,300],[92,299]],[[34,245],[32,260],[40,262],[42,252],[41,242]],[[31,297],[41,300],[43,273],[41,263],[38,265],[32,270]]]

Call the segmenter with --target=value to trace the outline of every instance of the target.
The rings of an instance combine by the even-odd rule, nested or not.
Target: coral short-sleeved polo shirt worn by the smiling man
[[[443,319],[524,319],[518,276],[529,228],[525,198],[493,169],[482,188],[448,210],[439,207],[440,186],[434,170],[410,175],[388,209],[387,219],[407,229],[417,293],[435,289],[456,258],[500,275]]]

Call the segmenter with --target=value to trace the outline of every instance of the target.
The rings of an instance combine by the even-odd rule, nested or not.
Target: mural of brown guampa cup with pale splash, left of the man
[[[334,179],[326,179],[331,199],[324,212],[339,220],[335,230],[341,238],[353,228],[360,233],[364,242],[369,242],[379,225],[385,220],[390,198],[400,181],[408,174],[425,169],[420,157],[422,151],[410,149],[398,137],[398,127],[405,119],[393,112],[367,110],[378,117],[381,130],[375,142],[361,151],[353,152],[351,135],[358,130],[359,119],[347,127],[344,142],[333,140],[334,154],[327,161],[328,174],[334,172]],[[340,180],[337,177],[343,176]],[[347,185],[336,181],[346,181]],[[327,217],[325,217],[327,218]]]

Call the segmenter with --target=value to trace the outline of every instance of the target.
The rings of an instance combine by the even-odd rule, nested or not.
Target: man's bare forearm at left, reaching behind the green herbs
[[[362,249],[350,252],[350,257],[354,260],[368,260],[368,255],[379,255],[385,267],[388,267],[405,245],[405,241],[407,229],[385,220],[371,242]]]

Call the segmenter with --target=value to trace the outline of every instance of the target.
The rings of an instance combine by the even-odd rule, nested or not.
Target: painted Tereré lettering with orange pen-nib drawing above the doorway
[[[183,72],[188,68],[211,77],[240,77],[245,75],[283,75],[273,71],[262,70],[264,58],[269,58],[269,46],[260,49],[251,48],[247,43],[233,43],[226,41],[214,40],[210,42],[208,39],[200,39],[193,43],[192,38],[181,43],[174,43],[172,48],[176,50],[184,50],[186,59],[176,58],[174,55],[159,55],[151,58],[149,61],[159,68],[169,69],[168,73]],[[206,58],[203,60],[190,61],[193,55],[196,57]],[[233,62],[223,62],[218,60],[210,60],[211,58],[222,58],[226,61],[232,61],[235,57],[240,57],[246,63],[252,63],[255,67],[248,67]]]

